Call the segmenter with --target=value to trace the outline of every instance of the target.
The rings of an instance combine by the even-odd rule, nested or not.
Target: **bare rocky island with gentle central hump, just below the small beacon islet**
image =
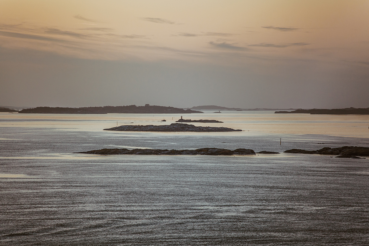
[[[240,132],[242,130],[227,127],[196,127],[190,124],[172,123],[170,125],[121,125],[104,129],[107,131],[142,131],[142,132]]]

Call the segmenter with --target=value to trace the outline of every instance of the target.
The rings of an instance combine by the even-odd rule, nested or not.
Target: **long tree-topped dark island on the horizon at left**
[[[195,110],[184,110],[182,108],[164,107],[146,104],[145,106],[104,106],[104,107],[82,107],[82,108],[62,108],[62,107],[36,107],[19,111],[20,114],[191,114],[203,113]]]

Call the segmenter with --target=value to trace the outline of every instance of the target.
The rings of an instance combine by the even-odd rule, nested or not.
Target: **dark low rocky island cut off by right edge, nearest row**
[[[284,153],[297,154],[319,154],[319,155],[337,155],[339,158],[360,158],[358,156],[369,156],[369,148],[356,146],[343,146],[340,148],[325,147],[318,150],[289,149]]]

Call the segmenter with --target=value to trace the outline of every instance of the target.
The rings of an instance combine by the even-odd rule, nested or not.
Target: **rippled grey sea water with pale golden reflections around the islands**
[[[0,245],[369,245],[369,159],[283,153],[368,147],[368,115],[221,112],[182,116],[243,131],[103,131],[178,114],[0,113]],[[280,154],[73,153],[205,147]]]

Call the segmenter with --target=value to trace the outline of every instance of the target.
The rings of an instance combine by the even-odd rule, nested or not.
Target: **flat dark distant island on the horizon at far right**
[[[298,109],[294,111],[275,111],[275,114],[369,114],[369,108],[340,109]]]

